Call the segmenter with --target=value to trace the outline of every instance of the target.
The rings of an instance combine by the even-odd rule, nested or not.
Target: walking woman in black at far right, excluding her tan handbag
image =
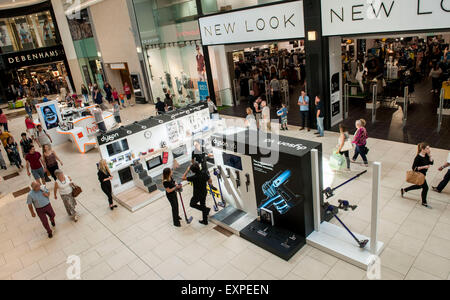
[[[415,172],[420,172],[423,175],[427,175],[428,169],[434,164],[433,158],[431,157],[431,148],[427,143],[420,143],[417,145],[417,155],[414,158],[414,162],[412,165],[412,170]],[[422,205],[428,208],[431,208],[427,204],[427,194],[428,194],[428,184],[427,181],[422,185],[412,185],[407,187],[406,189],[400,189],[402,197],[405,193],[412,190],[420,190],[422,189]]]

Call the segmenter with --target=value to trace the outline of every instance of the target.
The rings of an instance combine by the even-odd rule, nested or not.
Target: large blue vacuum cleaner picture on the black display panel
[[[263,184],[262,190],[266,199],[262,201],[261,208],[269,208],[272,205],[281,214],[285,214],[293,207],[294,201],[299,197],[290,191],[285,184],[289,181],[291,177],[291,171],[286,170],[284,172],[278,173],[272,180],[267,181]]]

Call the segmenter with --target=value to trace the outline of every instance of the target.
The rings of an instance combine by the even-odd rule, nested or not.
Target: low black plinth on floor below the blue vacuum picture
[[[286,261],[294,256],[295,253],[306,244],[305,238],[301,237],[299,234],[294,234],[289,230],[261,223],[258,220],[250,223],[239,234],[247,241]],[[292,237],[295,239],[292,239]]]

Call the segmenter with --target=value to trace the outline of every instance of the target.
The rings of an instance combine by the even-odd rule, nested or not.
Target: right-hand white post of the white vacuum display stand
[[[378,200],[380,199],[381,163],[373,163],[372,216],[370,219],[370,253],[377,255],[378,244]]]

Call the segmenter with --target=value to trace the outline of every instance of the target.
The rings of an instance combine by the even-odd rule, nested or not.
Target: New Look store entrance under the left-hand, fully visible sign
[[[297,108],[298,97],[305,90],[306,83],[303,40],[224,46],[224,71],[229,74],[229,94],[223,82],[216,79],[221,77],[217,47],[223,46],[210,46],[209,52],[214,89],[218,91],[216,98],[224,106],[222,114],[245,117],[246,108],[251,107],[258,97],[268,102],[274,113],[272,115],[276,115],[275,111],[281,104],[285,104],[288,109]],[[290,117],[290,124],[300,124],[300,120],[295,119],[299,117],[298,114]]]

